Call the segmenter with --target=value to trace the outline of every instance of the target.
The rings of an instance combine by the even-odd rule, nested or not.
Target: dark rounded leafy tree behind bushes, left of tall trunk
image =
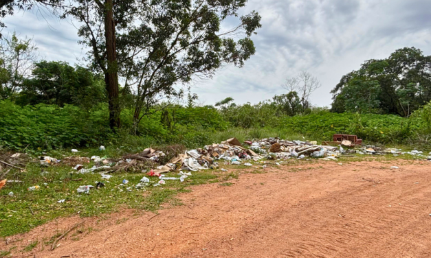
[[[35,64],[32,78],[25,80],[16,97],[17,104],[74,104],[91,108],[106,99],[103,80],[84,67],[66,62],[41,61]]]

